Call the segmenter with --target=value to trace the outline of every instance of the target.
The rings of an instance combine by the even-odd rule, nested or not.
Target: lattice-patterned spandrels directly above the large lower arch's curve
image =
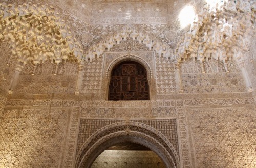
[[[100,128],[107,125],[123,122],[125,120],[104,120],[104,119],[81,119],[79,126],[79,134],[77,139],[76,152],[78,153],[82,145],[86,140]],[[129,120],[131,122],[139,122],[149,125],[156,130],[160,131],[167,139],[172,143],[177,154],[179,155],[178,147],[178,135],[177,135],[177,125],[176,119],[162,119],[162,120]]]

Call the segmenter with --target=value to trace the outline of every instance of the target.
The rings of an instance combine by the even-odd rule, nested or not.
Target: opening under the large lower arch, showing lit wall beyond
[[[91,166],[91,168],[99,167],[165,168],[165,164],[151,149],[125,141],[104,150]]]

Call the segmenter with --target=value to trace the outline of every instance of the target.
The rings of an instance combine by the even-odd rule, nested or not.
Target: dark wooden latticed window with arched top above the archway
[[[111,73],[109,100],[149,100],[145,68],[137,62],[125,61]]]

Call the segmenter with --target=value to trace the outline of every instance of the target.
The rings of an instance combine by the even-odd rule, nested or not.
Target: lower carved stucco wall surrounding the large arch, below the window
[[[138,110],[138,106],[144,106],[144,110]],[[106,110],[111,108],[127,115],[115,117],[117,112],[110,113],[110,110]],[[150,116],[147,109],[152,108],[155,109],[156,117],[154,120],[145,119]],[[172,108],[173,112],[169,111]],[[133,115],[136,111],[138,115]],[[176,149],[179,148],[179,157],[184,167],[255,166],[255,102],[246,96],[237,99],[159,100],[136,103],[7,100],[6,108],[1,112],[1,148],[6,149],[1,151],[1,164],[5,166],[73,167],[76,137],[81,128],[91,131],[92,127],[97,129],[98,125],[93,124],[93,121],[108,125],[112,123],[110,121],[119,121],[114,118],[126,120],[127,117],[154,126],[166,137],[178,140],[179,147],[176,146]],[[173,115],[166,117],[170,112]],[[92,114],[91,119],[87,119],[87,123],[91,123],[89,126],[83,127],[78,122],[79,118],[85,117],[83,114]],[[141,114],[145,116],[140,116]],[[171,130],[168,132],[163,124],[164,121],[172,120],[177,121],[173,127],[177,127],[178,138]]]

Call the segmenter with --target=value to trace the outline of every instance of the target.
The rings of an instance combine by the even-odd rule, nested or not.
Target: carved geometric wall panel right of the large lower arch
[[[254,108],[193,109],[196,167],[256,167]]]

